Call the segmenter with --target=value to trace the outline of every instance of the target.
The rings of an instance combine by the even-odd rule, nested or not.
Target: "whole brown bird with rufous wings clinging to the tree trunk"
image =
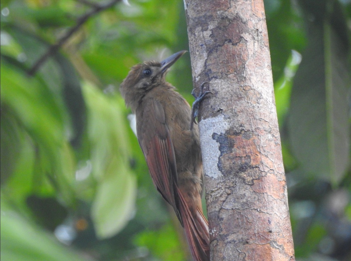
[[[192,124],[190,105],[165,80],[168,68],[185,52],[133,66],[120,92],[136,114],[138,141],[154,185],[184,227],[193,260],[205,261],[210,260],[210,237],[201,206],[199,129]],[[197,103],[207,93],[201,88]]]

